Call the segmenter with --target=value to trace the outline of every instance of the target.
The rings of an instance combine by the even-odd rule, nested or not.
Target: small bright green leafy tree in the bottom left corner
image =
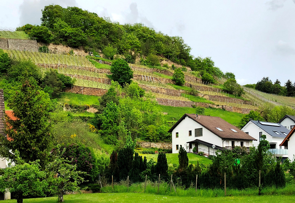
[[[48,183],[46,173],[42,171],[39,160],[25,163],[15,151],[16,164],[3,169],[0,176],[0,192],[16,194],[17,203],[22,203],[28,195],[44,196]]]

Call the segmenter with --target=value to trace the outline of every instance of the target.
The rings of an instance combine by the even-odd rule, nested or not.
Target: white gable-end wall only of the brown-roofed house
[[[203,136],[195,137],[196,128],[203,128]],[[192,132],[191,136],[189,136],[189,130],[191,130]],[[178,138],[176,138],[176,132],[178,132]],[[189,152],[189,144],[187,142],[193,141],[196,139],[199,139],[208,143],[212,143],[217,146],[222,146],[222,139],[220,137],[213,134],[211,131],[207,130],[205,127],[201,126],[199,123],[195,122],[193,119],[186,117],[172,131],[172,153],[178,153],[178,150],[176,150],[176,145],[178,145],[178,148],[180,148],[180,145],[182,145],[185,149],[186,149],[186,146],[188,146],[187,151]],[[192,148],[194,148],[194,144]],[[201,150],[204,150],[204,153],[208,153],[207,146],[206,148],[201,146]],[[207,152],[205,150],[207,150]],[[213,154],[213,149],[210,149],[210,150],[212,150],[212,154]],[[191,149],[191,152],[192,152],[192,149]]]

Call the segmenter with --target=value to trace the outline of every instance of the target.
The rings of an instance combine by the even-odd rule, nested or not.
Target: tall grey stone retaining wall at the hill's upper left
[[[0,49],[38,52],[36,40],[0,39]]]

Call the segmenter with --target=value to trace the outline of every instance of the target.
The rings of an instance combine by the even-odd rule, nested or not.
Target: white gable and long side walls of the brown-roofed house
[[[203,132],[202,136],[195,137],[195,133],[194,133],[195,129],[199,129],[199,128],[202,128],[202,132]],[[189,136],[189,131],[191,131],[191,136]],[[176,133],[178,133],[178,137],[176,137]],[[207,128],[195,122],[193,119],[189,117],[185,117],[172,130],[172,153],[178,153],[177,146],[179,149],[180,145],[182,145],[182,147],[185,148],[187,152],[193,152],[193,148],[196,146],[197,143],[192,143],[192,146],[190,148],[189,143],[187,142],[194,141],[196,139],[199,139],[207,143],[212,143],[212,145],[214,144],[219,147],[232,146],[232,144],[234,144],[235,146],[241,145],[241,141],[222,139],[221,137],[207,130]],[[247,141],[247,142],[243,141],[243,145],[245,147],[252,146],[252,141]],[[201,152],[201,151],[208,155],[213,155],[214,152],[216,152],[216,149],[213,149],[212,147],[208,147],[206,145],[199,143],[198,152]]]

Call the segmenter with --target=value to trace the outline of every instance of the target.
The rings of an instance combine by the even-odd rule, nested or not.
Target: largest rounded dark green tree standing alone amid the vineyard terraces
[[[112,79],[118,81],[121,86],[125,83],[130,84],[131,78],[133,78],[133,71],[123,59],[117,59],[112,63],[111,73]]]

